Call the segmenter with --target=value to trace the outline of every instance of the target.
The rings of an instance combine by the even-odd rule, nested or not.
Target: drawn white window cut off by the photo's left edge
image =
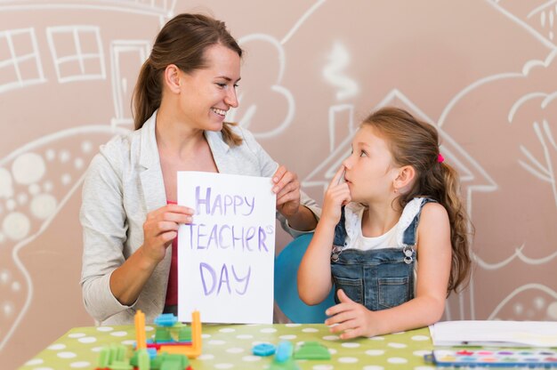
[[[0,32],[0,93],[44,81],[35,30]]]

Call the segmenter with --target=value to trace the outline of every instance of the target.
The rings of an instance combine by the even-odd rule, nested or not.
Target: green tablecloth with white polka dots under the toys
[[[147,338],[154,336],[153,326],[146,326]],[[331,353],[330,360],[300,360],[300,369],[433,369],[424,362],[424,354],[432,351],[427,328],[399,334],[343,341],[331,334],[325,325],[204,325],[203,350],[191,360],[194,370],[202,369],[264,369],[272,357],[252,354],[255,344],[277,345],[290,341],[319,342]],[[110,343],[128,345],[130,355],[135,342],[133,326],[77,327],[64,334],[45,350],[21,366],[22,370],[93,369],[101,347]]]

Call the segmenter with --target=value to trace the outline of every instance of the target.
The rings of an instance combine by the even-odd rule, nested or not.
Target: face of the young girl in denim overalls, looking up
[[[370,125],[362,125],[352,140],[351,156],[343,162],[344,179],[353,202],[370,204],[390,199],[398,167],[392,163],[387,142]]]

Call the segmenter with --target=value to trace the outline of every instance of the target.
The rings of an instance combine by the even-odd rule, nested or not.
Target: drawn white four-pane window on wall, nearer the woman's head
[[[98,27],[61,26],[46,29],[58,81],[105,78],[104,56]]]

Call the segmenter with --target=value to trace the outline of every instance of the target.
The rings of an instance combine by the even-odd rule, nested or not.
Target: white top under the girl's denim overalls
[[[404,230],[420,212],[423,197],[415,197],[404,207],[399,221],[386,233],[379,237],[364,237],[361,233],[361,220],[365,207],[358,203],[350,203],[344,207],[344,225],[346,227],[346,240],[344,249],[359,249],[369,251],[380,248],[402,248]],[[416,236],[417,237],[417,236]],[[417,244],[417,239],[416,239]]]

